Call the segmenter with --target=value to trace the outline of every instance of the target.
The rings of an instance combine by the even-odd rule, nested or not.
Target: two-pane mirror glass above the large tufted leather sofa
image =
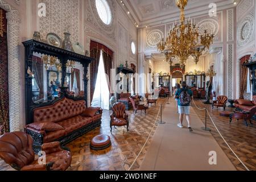
[[[51,102],[61,97],[61,86],[68,88],[68,96],[84,97],[84,67],[76,61],[67,61],[67,72],[64,85],[61,85],[60,60],[57,57],[34,53],[32,57],[32,101],[35,104]]]

